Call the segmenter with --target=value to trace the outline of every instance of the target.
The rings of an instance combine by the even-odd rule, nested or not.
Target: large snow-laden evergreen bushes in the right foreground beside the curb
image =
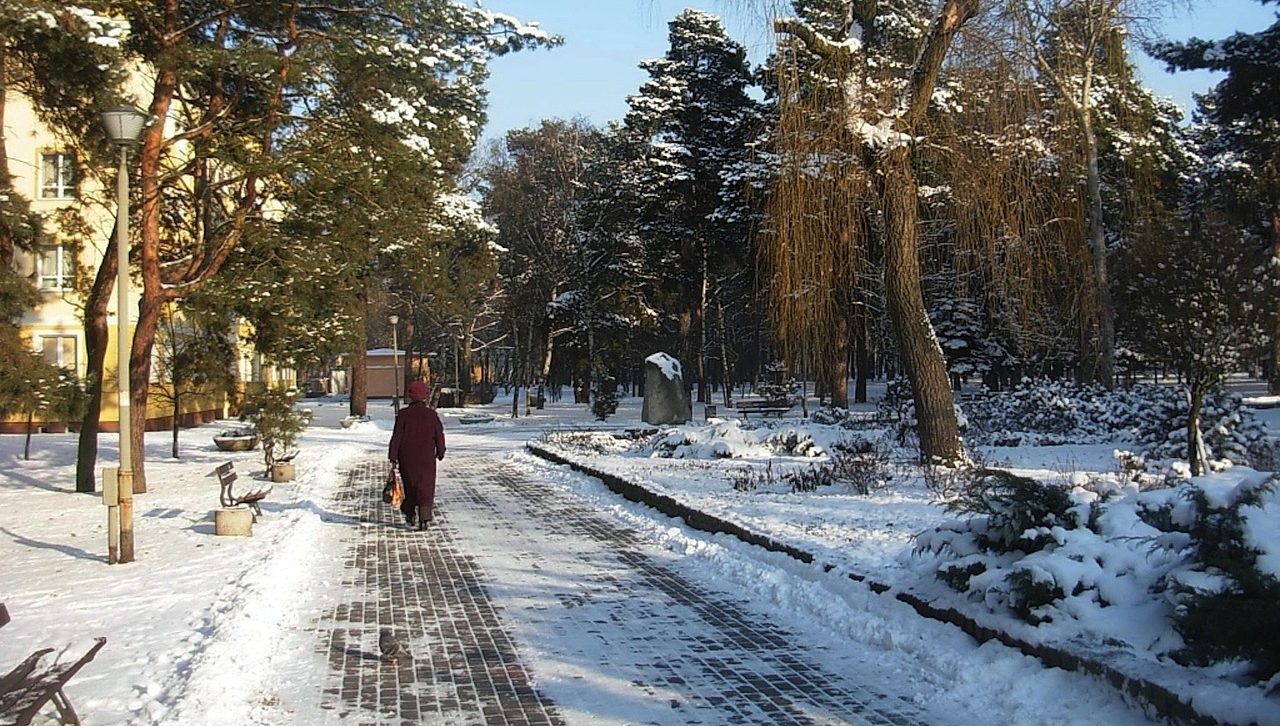
[[[1280,476],[1238,467],[1139,492],[983,470],[954,508],[975,516],[922,533],[915,554],[970,601],[1119,643],[1143,622],[1128,647],[1280,684]]]

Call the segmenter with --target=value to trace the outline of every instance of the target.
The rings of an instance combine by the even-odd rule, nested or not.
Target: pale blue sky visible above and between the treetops
[[[754,59],[772,42],[759,12],[745,8],[765,3],[730,0],[489,0],[485,6],[521,20],[538,20],[564,36],[564,45],[498,58],[492,64],[489,125],[485,138],[508,129],[535,125],[543,118],[585,117],[603,124],[621,119],[626,97],[639,90],[645,73],[637,64],[667,50],[667,22],[686,6],[701,8],[726,19],[730,35]],[[1257,31],[1274,22],[1275,6],[1256,0],[1194,3],[1192,9],[1170,5],[1164,32],[1171,38],[1220,38],[1235,29]],[[1188,106],[1194,91],[1213,85],[1206,72],[1167,74],[1149,60],[1139,63],[1148,86]]]

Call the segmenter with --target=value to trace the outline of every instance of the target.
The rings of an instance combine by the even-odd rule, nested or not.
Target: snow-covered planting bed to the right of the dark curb
[[[1260,411],[1258,417],[1271,435],[1280,434],[1280,410]],[[1132,442],[979,447],[974,455],[987,466],[1062,485],[1078,507],[1102,498],[1112,502],[1094,525],[1097,534],[1084,526],[1046,529],[1039,535],[1056,540],[1055,547],[1025,560],[1001,560],[978,552],[959,515],[943,506],[938,483],[922,476],[901,449],[893,451],[897,461],[881,461],[887,481],[869,494],[855,493],[849,484],[792,492],[786,475],[826,461],[820,453],[835,452],[842,435],[877,442],[877,451],[891,448],[884,443],[887,433],[876,429],[727,419],[663,428],[639,442],[568,432],[548,435],[545,444],[594,470],[643,483],[694,510],[812,553],[837,574],[852,572],[895,592],[911,592],[1024,641],[1114,661],[1123,672],[1190,698],[1198,709],[1224,721],[1280,723],[1280,698],[1265,695],[1280,679],[1258,684],[1245,677],[1243,663],[1184,668],[1167,657],[1183,645],[1170,624],[1172,590],[1212,589],[1220,586],[1220,577],[1188,560],[1185,535],[1157,530],[1139,516],[1139,510],[1167,507],[1174,520],[1181,517],[1185,524],[1189,492],[1203,492],[1222,506],[1266,481],[1268,472],[1231,467],[1197,479],[1194,489],[1164,489],[1156,487],[1157,476],[1148,475],[1142,489],[1151,490],[1139,490],[1115,456]],[[754,488],[735,487],[744,481]],[[1248,544],[1261,552],[1258,567],[1280,576],[1280,496],[1270,494],[1251,511]],[[940,525],[942,531],[932,531]],[[984,562],[986,571],[973,577],[969,597],[937,576],[940,567],[977,561]],[[1014,597],[1006,580],[1019,570],[1066,593],[1053,606],[1033,611],[1038,625],[1010,612]]]

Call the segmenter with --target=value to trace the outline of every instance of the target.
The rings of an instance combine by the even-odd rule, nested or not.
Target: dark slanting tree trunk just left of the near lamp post
[[[113,230],[115,227],[113,225]],[[106,242],[102,262],[84,301],[84,417],[76,449],[76,490],[97,489],[97,434],[102,420],[102,378],[110,343],[106,307],[115,288],[115,234]]]

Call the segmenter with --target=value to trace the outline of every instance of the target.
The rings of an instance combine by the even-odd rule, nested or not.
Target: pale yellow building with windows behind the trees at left
[[[114,178],[104,190],[91,174],[83,173],[83,164],[74,146],[56,138],[35,117],[23,96],[9,93],[4,113],[5,147],[9,173],[14,190],[31,200],[31,209],[46,218],[45,237],[38,250],[19,250],[14,259],[18,273],[27,277],[40,291],[38,305],[27,311],[19,321],[23,339],[45,360],[76,371],[83,379],[87,356],[83,329],[83,294],[102,260],[102,254],[115,224]],[[79,213],[86,224],[84,239],[65,238],[59,233],[54,218],[68,210]],[[131,296],[132,316],[137,318],[137,288]],[[116,389],[116,296],[109,302],[109,335],[104,365],[101,430],[119,430]],[[132,333],[131,333],[132,334]],[[233,362],[237,388],[261,385],[293,385],[294,374],[289,369],[273,367],[243,343]],[[154,355],[159,355],[157,351]],[[172,405],[163,396],[163,385],[155,380],[160,366],[152,361],[152,392],[147,397],[147,429],[168,429],[173,423]],[[157,393],[160,393],[157,396]],[[183,398],[179,423],[200,424],[228,415],[225,392]],[[40,430],[64,430],[67,421],[37,421]],[[74,428],[77,421],[70,421]],[[0,433],[26,432],[26,420],[0,420]]]

